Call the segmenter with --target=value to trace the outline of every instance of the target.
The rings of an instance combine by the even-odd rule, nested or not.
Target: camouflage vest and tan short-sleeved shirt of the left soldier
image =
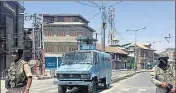
[[[27,62],[21,59],[12,62],[5,80],[7,93],[24,93],[29,76],[32,74]]]

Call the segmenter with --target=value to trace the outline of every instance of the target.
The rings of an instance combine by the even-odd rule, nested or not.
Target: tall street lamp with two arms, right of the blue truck
[[[135,61],[134,61],[134,68],[136,68],[137,66],[137,46],[136,46],[136,38],[137,38],[137,31],[140,31],[142,29],[146,29],[146,27],[137,29],[137,30],[127,30],[127,31],[134,31],[135,32],[135,48],[134,48],[134,57],[135,57]]]

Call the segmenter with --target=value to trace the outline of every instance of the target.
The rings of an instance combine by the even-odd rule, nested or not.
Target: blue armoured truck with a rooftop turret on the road
[[[83,40],[90,41],[90,39],[81,41]],[[100,84],[104,88],[109,88],[112,76],[111,55],[97,51],[92,47],[96,44],[90,42],[79,45],[81,49],[79,47],[79,50],[63,55],[62,63],[56,70],[57,80],[54,84],[58,85],[58,92],[66,93],[67,89],[77,87],[88,93],[96,93]]]

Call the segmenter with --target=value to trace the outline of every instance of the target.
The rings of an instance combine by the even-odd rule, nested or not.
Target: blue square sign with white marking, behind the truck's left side
[[[45,68],[57,68],[57,57],[45,57]]]

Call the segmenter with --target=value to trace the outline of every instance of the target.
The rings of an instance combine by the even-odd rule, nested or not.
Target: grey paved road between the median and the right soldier
[[[101,93],[155,93],[155,85],[150,81],[150,73],[144,72],[115,83]]]

